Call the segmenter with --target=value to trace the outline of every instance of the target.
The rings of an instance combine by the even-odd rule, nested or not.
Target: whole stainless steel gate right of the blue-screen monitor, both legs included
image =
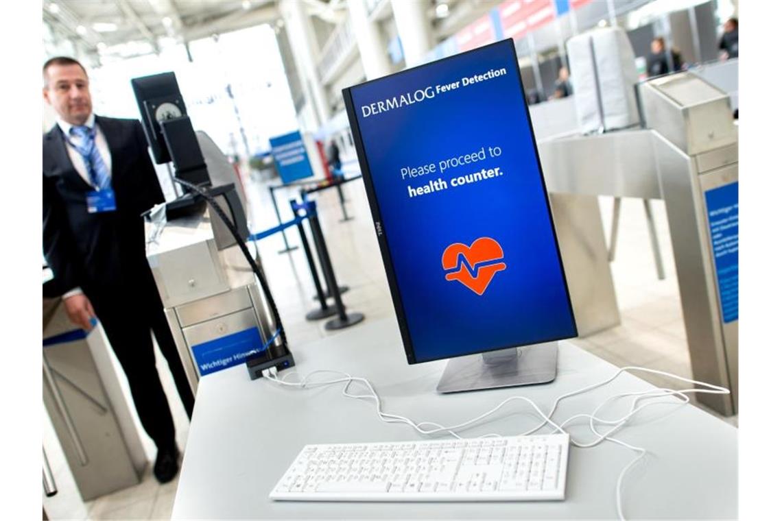
[[[693,375],[730,389],[698,401],[734,415],[738,142],[730,98],[691,73],[638,90],[646,128],[538,141],[579,334],[619,323],[597,195],[664,200]]]

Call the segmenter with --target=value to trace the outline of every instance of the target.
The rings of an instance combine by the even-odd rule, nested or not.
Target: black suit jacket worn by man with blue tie
[[[141,214],[164,201],[141,123],[101,116],[95,123],[111,154],[114,212],[87,212],[94,188],[74,168],[59,126],[43,139],[44,255],[59,291],[81,287],[91,300],[151,278]]]

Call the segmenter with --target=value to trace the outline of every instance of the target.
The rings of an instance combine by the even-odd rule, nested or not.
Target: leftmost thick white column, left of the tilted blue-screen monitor
[[[296,62],[304,99],[307,100],[307,105],[310,105],[315,120],[316,128],[306,130],[317,130],[317,127],[321,127],[331,117],[331,111],[325,90],[317,76],[317,41],[312,23],[304,11],[304,2],[279,2],[278,5],[285,20],[285,32],[288,34]]]

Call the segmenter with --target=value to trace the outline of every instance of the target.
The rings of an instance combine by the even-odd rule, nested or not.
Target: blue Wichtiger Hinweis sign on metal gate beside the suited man
[[[247,356],[264,351],[264,341],[260,339],[258,328],[250,327],[203,344],[195,344],[191,349],[195,365],[203,376],[244,363]]]

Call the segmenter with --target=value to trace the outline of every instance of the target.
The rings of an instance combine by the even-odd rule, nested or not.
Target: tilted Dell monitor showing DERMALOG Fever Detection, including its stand
[[[343,97],[407,362],[451,359],[441,392],[553,380],[576,322],[513,41]]]

